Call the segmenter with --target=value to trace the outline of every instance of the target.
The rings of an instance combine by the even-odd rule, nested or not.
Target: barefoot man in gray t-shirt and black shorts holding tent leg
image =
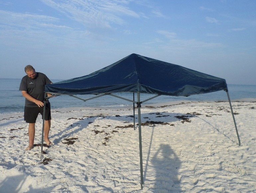
[[[35,124],[39,113],[42,115],[44,112],[44,90],[46,84],[52,84],[49,78],[40,72],[36,72],[33,66],[27,65],[25,67],[26,76],[21,80],[20,91],[25,97],[25,110],[24,120],[29,123],[29,146],[26,150],[31,150],[34,147],[35,139]],[[49,96],[49,94],[48,94]],[[46,113],[45,113],[45,127],[44,127],[44,140],[47,145],[51,145],[49,140],[49,132],[51,127],[51,105],[47,100]]]

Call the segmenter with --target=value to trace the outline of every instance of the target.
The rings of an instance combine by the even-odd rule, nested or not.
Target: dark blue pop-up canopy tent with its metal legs
[[[227,93],[240,146],[240,139],[225,79],[217,78],[179,65],[159,61],[138,54],[131,54],[115,62],[114,64],[102,68],[101,70],[93,72],[89,75],[65,80],[51,85],[46,85],[45,100],[49,99],[49,97],[46,97],[47,93],[53,94],[54,96],[69,95],[83,101],[102,97],[104,95],[110,95],[128,100],[133,103],[133,106],[136,103],[138,107],[141,188],[143,188],[140,113],[141,104],[160,95],[190,96],[221,90],[224,90]],[[124,92],[133,93],[133,100],[113,94]],[[134,99],[134,93],[137,93],[137,101]],[[155,94],[156,96],[141,101],[141,93]],[[74,95],[96,96],[83,99]],[[133,112],[135,115],[134,109],[135,108],[133,108]],[[43,151],[43,135],[44,129],[42,129],[41,151]]]

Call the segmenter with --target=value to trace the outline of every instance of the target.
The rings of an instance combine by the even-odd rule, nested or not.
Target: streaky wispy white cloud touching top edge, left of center
[[[41,0],[46,5],[64,13],[67,17],[84,26],[111,28],[111,25],[123,25],[123,16],[139,18],[140,15],[127,7],[130,1],[110,0]]]

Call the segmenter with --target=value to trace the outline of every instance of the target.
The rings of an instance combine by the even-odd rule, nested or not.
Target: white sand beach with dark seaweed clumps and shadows
[[[0,192],[256,192],[256,102],[232,105],[241,146],[226,101],[142,105],[143,190],[132,108],[53,109],[45,154],[41,116],[25,151],[23,113],[1,114]]]

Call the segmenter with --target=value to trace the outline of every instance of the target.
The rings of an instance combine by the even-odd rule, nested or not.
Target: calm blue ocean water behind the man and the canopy
[[[54,83],[62,80],[52,80]],[[23,112],[25,98],[19,91],[21,79],[0,79],[0,113],[11,113],[11,112]],[[242,99],[242,98],[254,98],[256,99],[256,85],[228,85],[228,91],[231,100]],[[120,97],[133,99],[132,93],[118,93]],[[141,94],[141,101],[147,98],[153,97],[154,95]],[[78,95],[81,98],[93,97],[93,95]],[[58,96],[49,99],[51,102],[51,108],[67,108],[67,107],[125,107],[132,105],[131,102],[122,100],[116,97],[103,96],[96,99],[88,100],[86,102],[76,99],[70,96]],[[137,95],[135,94],[135,100]],[[189,97],[171,97],[171,96],[160,96],[152,100],[145,102],[145,105],[152,103],[164,103],[170,101],[180,100],[191,100],[191,101],[219,101],[227,100],[226,92],[218,91],[207,94],[193,95]]]

